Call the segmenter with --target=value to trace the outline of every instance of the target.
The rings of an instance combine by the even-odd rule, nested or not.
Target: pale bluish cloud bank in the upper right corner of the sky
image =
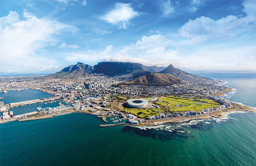
[[[247,16],[238,18],[234,15],[213,20],[213,18],[201,16],[189,20],[178,32],[183,37],[206,37],[214,39],[218,37],[237,37],[241,32],[256,28],[256,5],[253,0],[243,2],[243,11]]]

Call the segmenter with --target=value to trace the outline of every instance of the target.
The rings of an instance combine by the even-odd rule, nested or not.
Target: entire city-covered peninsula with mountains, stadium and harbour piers
[[[173,65],[165,68],[100,62],[90,66],[78,62],[56,74],[4,77],[0,82],[0,91],[5,94],[30,88],[53,95],[10,104],[1,101],[0,123],[82,113],[102,118],[101,127],[156,125],[223,118],[232,111],[255,111],[217,97],[232,90],[222,86],[221,81],[188,74]],[[13,115],[13,107],[38,102],[58,102],[59,106],[35,107],[33,111]]]

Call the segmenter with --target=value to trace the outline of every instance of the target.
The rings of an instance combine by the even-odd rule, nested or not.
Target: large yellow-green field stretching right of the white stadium
[[[166,101],[166,102],[163,102]],[[210,99],[188,99],[183,97],[162,97],[159,102],[156,102],[161,106],[169,106],[169,111],[201,111],[202,109],[218,106],[219,104]],[[176,105],[183,105],[176,107]]]

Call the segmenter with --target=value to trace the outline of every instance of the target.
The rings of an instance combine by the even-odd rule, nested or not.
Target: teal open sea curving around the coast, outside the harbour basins
[[[226,94],[229,100],[256,106],[253,75],[237,78],[230,74],[204,74],[201,75],[221,79],[226,86],[236,89]],[[256,163],[253,112],[232,112],[224,119],[151,127],[100,128],[99,124],[104,122],[94,115],[76,113],[0,124],[0,166],[255,166]]]

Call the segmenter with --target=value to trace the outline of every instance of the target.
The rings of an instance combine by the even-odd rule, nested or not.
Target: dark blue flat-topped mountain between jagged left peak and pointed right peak
[[[108,76],[131,74],[133,77],[139,77],[151,73],[144,69],[142,64],[132,62],[99,62],[93,67],[94,73]]]

